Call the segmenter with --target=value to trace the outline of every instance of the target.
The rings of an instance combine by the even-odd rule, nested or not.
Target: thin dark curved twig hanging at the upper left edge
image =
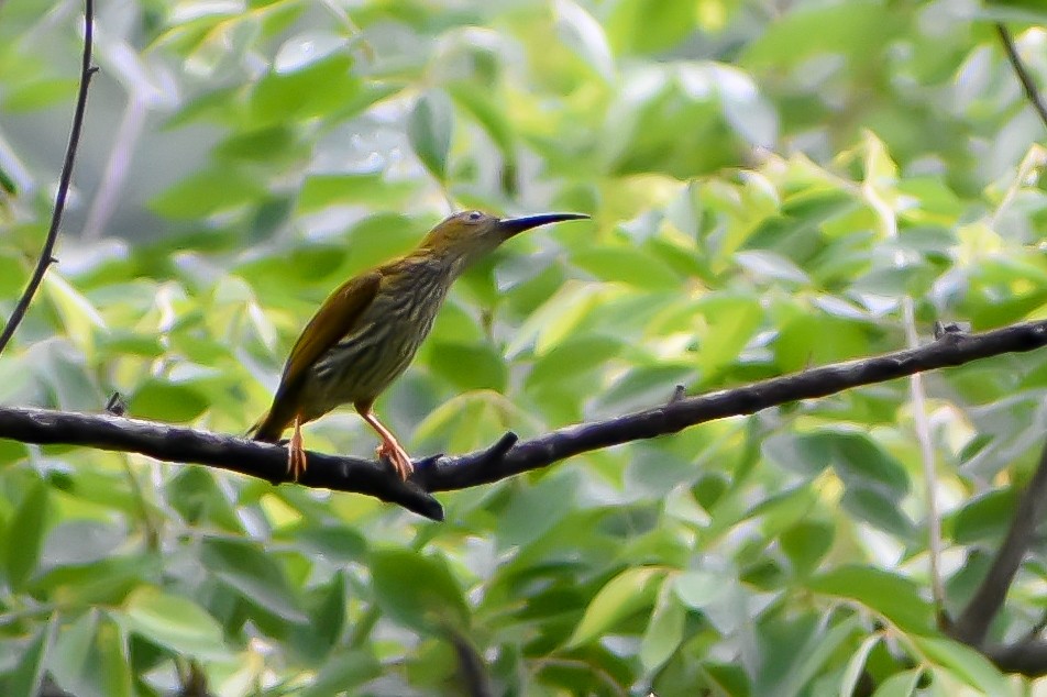
[[[41,250],[40,258],[36,261],[36,268],[33,269],[33,276],[25,286],[22,297],[19,298],[11,312],[3,332],[0,332],[0,353],[7,347],[14,330],[22,323],[25,312],[29,310],[33,296],[44,280],[44,274],[47,267],[54,262],[55,243],[58,241],[58,228],[62,225],[62,212],[65,210],[66,197],[69,195],[69,184],[73,180],[73,162],[76,158],[76,148],[80,143],[80,130],[84,126],[84,112],[87,109],[87,88],[91,84],[91,76],[98,68],[91,67],[91,48],[95,41],[95,2],[85,0],[84,3],[84,58],[80,66],[80,89],[76,96],[76,111],[73,113],[73,130],[69,133],[69,144],[66,146],[65,162],[62,165],[62,176],[58,179],[58,192],[55,196],[55,208],[51,214],[51,230],[47,231],[47,240],[44,242],[44,248]]]

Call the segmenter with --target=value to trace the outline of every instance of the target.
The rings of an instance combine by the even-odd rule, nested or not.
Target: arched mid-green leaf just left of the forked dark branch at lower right
[[[839,566],[812,578],[807,588],[861,604],[906,632],[934,628],[930,604],[918,586],[902,576],[869,566]]]

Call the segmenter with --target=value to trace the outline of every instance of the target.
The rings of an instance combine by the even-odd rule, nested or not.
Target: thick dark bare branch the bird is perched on
[[[310,452],[309,469],[299,484],[366,494],[441,520],[443,510],[429,491],[497,482],[578,453],[675,433],[715,419],[749,414],[800,399],[825,397],[852,387],[1045,345],[1047,321],[1014,324],[983,334],[945,332],[933,344],[918,348],[676,399],[654,409],[559,429],[522,443],[517,442],[515,434],[507,433],[484,451],[420,461],[414,477],[406,484],[383,463]],[[0,407],[0,438],[135,452],[165,462],[220,467],[274,484],[287,480],[287,452],[279,445],[112,414]]]

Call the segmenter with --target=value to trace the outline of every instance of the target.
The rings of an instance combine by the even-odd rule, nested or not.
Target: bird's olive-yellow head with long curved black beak
[[[422,240],[421,247],[432,250],[441,256],[461,259],[467,265],[525,230],[586,218],[588,215],[581,213],[496,218],[482,211],[463,211],[454,213],[433,228]]]

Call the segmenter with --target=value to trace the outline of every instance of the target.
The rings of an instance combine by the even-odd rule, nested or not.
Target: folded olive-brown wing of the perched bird
[[[374,302],[381,284],[382,273],[371,270],[350,278],[323,301],[290,350],[273,406],[249,431],[254,433],[254,440],[279,440],[299,411],[309,368],[343,336],[352,333],[364,311]]]

